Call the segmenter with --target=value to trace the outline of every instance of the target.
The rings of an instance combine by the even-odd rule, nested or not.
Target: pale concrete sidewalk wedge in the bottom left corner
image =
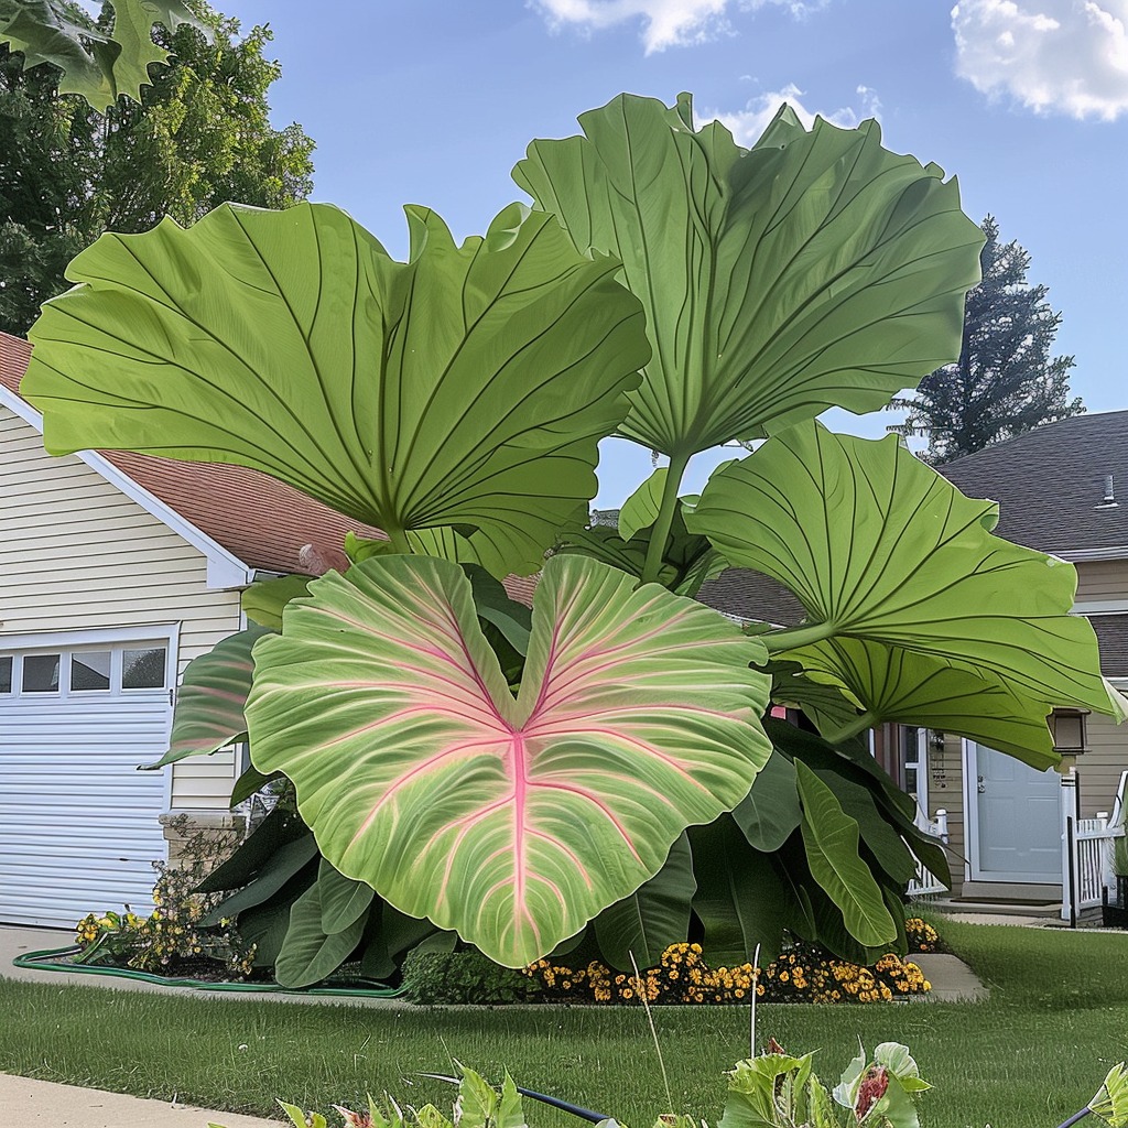
[[[209,1121],[223,1128],[279,1128],[277,1120],[259,1120],[236,1112],[209,1112],[186,1104],[143,1101],[138,1096],[104,1093],[50,1081],[29,1081],[0,1073],[0,1109],[3,1122],[43,1128],[206,1128]]]

